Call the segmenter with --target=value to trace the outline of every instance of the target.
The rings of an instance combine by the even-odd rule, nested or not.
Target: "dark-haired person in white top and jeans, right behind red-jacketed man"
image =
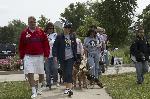
[[[49,22],[46,27],[44,32],[48,36],[48,41],[50,45],[50,55],[48,58],[48,61],[45,62],[45,73],[46,73],[46,82],[47,82],[47,87],[51,89],[51,78],[53,77],[53,82],[54,84],[58,87],[58,63],[55,61],[53,55],[52,55],[52,48],[53,48],[53,43],[56,39],[57,33],[54,32],[54,25],[53,23]]]

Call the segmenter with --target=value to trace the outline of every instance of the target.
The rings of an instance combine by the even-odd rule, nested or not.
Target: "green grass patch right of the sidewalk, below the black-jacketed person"
[[[135,73],[103,76],[102,82],[113,99],[150,99],[150,74],[141,85],[136,84]]]

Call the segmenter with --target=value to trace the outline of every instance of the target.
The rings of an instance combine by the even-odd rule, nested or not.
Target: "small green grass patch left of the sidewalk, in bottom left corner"
[[[0,83],[0,99],[30,99],[31,90],[27,82]]]

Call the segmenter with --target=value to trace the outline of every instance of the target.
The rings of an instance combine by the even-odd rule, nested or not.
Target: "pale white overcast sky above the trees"
[[[20,19],[27,23],[29,16],[37,19],[42,15],[51,19],[51,22],[59,21],[60,14],[70,3],[86,2],[87,0],[0,0],[0,26],[8,25],[13,19]],[[136,14],[150,4],[150,0],[138,0],[139,8]]]

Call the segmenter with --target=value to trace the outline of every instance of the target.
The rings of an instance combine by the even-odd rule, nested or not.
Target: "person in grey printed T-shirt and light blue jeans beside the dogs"
[[[90,74],[99,78],[99,74],[101,74],[101,67],[99,66],[100,40],[93,29],[88,31],[87,37],[84,39],[84,50],[87,56]]]

